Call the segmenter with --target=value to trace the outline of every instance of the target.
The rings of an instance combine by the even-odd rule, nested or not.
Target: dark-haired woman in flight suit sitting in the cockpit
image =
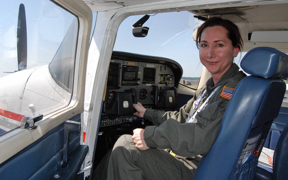
[[[233,63],[242,48],[238,27],[221,18],[206,20],[197,32],[200,61],[211,73],[206,85],[179,112],[134,104],[135,115],[154,126],[123,135],[110,156],[107,179],[192,179],[217,136],[229,99],[246,75]],[[187,122],[187,123],[186,123]],[[160,150],[170,148],[170,153]]]

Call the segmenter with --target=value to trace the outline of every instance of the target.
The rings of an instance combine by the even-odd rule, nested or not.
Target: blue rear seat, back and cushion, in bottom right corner
[[[288,177],[288,123],[282,131],[277,142],[273,156],[273,173],[257,168],[254,180],[280,180]]]

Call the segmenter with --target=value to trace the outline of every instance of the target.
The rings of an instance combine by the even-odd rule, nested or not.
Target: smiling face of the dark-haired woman
[[[232,65],[239,48],[232,46],[228,31],[222,26],[207,27],[201,35],[199,56],[212,77],[220,78]]]

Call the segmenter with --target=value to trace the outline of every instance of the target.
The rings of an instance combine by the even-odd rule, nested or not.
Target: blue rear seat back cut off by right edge
[[[288,177],[288,123],[277,142],[273,157],[273,179]]]

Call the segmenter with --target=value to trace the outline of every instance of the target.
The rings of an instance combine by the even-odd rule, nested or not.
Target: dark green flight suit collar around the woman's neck
[[[207,92],[209,92],[212,89],[215,89],[216,87],[220,86],[223,84],[223,82],[227,81],[227,79],[233,77],[239,70],[239,67],[237,64],[232,63],[231,67],[223,74],[223,76],[219,79],[219,81],[216,83],[214,86],[214,81],[213,78],[209,78],[208,81],[206,82],[206,89]]]

